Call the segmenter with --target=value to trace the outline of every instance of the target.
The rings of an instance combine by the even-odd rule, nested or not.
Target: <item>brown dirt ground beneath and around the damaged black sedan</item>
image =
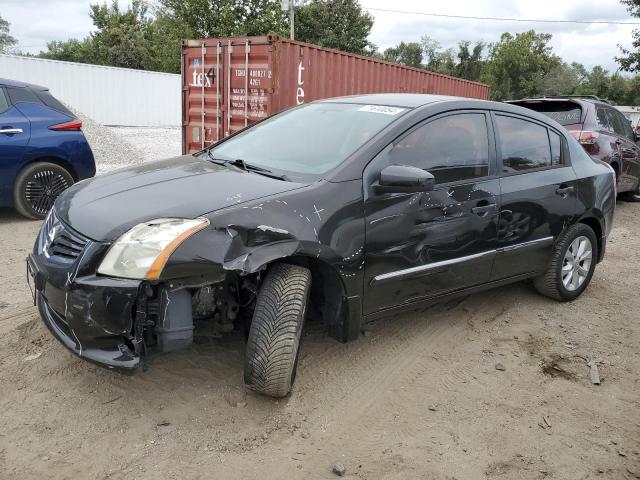
[[[640,205],[577,301],[516,284],[350,344],[311,325],[280,401],[243,389],[240,336],[135,376],[72,356],[30,305],[38,227],[0,211],[2,479],[640,478]]]

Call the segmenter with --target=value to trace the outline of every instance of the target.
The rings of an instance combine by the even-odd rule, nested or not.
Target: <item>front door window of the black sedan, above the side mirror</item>
[[[483,113],[438,118],[395,143],[388,153],[392,165],[408,165],[431,173],[436,183],[486,177],[489,139]]]

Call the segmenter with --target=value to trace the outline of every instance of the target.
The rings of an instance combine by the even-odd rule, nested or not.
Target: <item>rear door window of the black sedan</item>
[[[496,115],[496,123],[500,132],[504,173],[544,168],[553,164],[549,134],[545,127],[503,115]]]

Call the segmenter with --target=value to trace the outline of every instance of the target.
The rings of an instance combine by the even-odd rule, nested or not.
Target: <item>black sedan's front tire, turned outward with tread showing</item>
[[[244,383],[270,397],[286,396],[295,380],[311,272],[276,264],[265,277],[253,313]]]

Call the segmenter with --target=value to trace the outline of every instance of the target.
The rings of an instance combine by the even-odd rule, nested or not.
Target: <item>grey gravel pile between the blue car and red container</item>
[[[132,145],[112,129],[105,127],[86,115],[74,111],[82,120],[82,131],[96,159],[97,173],[105,173],[117,168],[139,165],[148,160],[146,154]]]

